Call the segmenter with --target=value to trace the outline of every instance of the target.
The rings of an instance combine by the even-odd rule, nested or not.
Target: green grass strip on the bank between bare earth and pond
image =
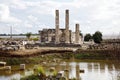
[[[77,51],[76,53],[66,52],[66,53],[54,53],[54,54],[45,54],[44,57],[41,55],[31,56],[31,57],[0,57],[0,61],[7,62],[8,65],[19,65],[19,64],[39,64],[43,61],[52,61],[54,58],[58,59],[71,59],[79,60],[113,60],[120,59],[119,54],[114,54],[111,51],[102,51],[102,50],[88,50],[88,51]]]

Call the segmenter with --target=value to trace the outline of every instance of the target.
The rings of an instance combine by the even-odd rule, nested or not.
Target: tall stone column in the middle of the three
[[[69,10],[65,11],[65,43],[70,43],[70,33],[69,33]]]

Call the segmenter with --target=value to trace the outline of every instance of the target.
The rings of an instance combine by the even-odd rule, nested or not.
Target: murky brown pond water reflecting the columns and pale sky
[[[19,80],[21,77],[36,74],[33,68],[38,65],[26,65],[25,71],[19,71],[19,65],[12,66],[11,71],[0,71],[0,80]],[[119,64],[112,61],[61,61],[51,62],[42,65],[49,75],[50,67],[54,67],[58,72],[63,71],[67,78],[77,80],[120,80]],[[65,72],[65,70],[68,70]],[[80,72],[80,70],[82,72]]]

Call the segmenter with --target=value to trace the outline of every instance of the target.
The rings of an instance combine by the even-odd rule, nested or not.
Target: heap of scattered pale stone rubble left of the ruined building
[[[17,51],[23,48],[32,49],[35,42],[32,41],[0,41],[0,51]]]

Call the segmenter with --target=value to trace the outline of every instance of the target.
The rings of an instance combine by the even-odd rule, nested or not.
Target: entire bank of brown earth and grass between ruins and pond
[[[42,52],[43,51],[43,52]],[[0,53],[0,61],[7,62],[8,65],[39,64],[41,62],[53,61],[53,59],[72,59],[78,60],[120,60],[120,51],[118,50],[71,50],[53,49],[33,49],[17,52]]]

